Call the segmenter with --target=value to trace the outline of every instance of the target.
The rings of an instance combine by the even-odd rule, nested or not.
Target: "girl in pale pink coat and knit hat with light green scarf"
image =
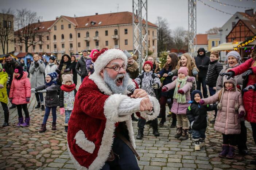
[[[162,91],[167,92],[168,90],[174,89],[173,104],[171,112],[177,114],[177,134],[174,136],[179,140],[186,140],[189,138],[187,134],[189,130],[189,121],[186,116],[187,108],[189,107],[190,101],[190,89],[192,88],[194,77],[188,76],[188,68],[181,67],[178,70],[178,78],[175,76],[171,83],[163,86]]]

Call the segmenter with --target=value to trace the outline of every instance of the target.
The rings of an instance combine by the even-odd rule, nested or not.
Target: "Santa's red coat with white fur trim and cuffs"
[[[134,82],[129,81],[129,84]],[[125,92],[128,93],[128,92]],[[85,77],[75,96],[74,109],[67,133],[68,151],[77,169],[101,169],[113,144],[116,122],[125,122],[129,140],[135,148],[131,116],[118,116],[120,102],[127,94],[112,94],[100,76]],[[158,116],[160,107],[153,99],[154,114],[141,115],[152,120]]]

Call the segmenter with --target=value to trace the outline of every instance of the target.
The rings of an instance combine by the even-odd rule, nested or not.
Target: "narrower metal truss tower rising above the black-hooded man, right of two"
[[[188,0],[189,2],[189,53],[196,52],[197,46],[197,4],[196,0]]]

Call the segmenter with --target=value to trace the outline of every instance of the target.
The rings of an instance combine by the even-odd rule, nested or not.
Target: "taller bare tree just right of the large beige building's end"
[[[163,52],[171,49],[173,45],[171,38],[171,31],[168,28],[168,22],[162,17],[157,17],[156,25],[158,26],[157,30],[157,49],[158,55]]]

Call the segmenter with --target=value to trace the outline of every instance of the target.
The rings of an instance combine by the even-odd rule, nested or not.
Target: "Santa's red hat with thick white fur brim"
[[[127,64],[127,57],[120,49],[103,48],[100,52],[93,55],[92,61],[94,62],[94,73],[100,75],[101,70],[112,60],[120,58]]]

